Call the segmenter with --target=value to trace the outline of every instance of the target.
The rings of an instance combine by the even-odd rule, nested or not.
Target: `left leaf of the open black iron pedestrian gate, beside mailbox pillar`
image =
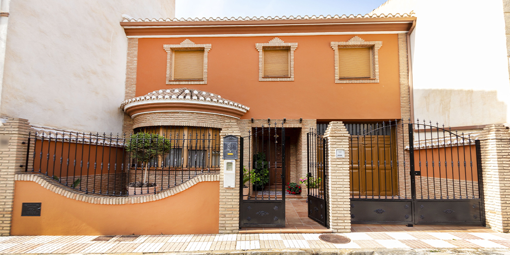
[[[239,226],[285,227],[283,123],[252,128],[240,145]]]

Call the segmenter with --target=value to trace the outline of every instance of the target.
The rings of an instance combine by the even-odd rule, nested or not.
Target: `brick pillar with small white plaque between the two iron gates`
[[[350,232],[349,200],[349,133],[342,121],[329,122],[324,137],[327,138],[327,203],[329,228],[333,233]],[[335,150],[344,149],[345,157],[336,158]]]

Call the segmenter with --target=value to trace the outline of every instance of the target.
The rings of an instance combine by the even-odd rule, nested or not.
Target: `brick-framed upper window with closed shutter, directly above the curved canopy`
[[[195,44],[189,39],[181,44],[165,44],[167,53],[166,84],[207,84],[207,56],[211,44]]]

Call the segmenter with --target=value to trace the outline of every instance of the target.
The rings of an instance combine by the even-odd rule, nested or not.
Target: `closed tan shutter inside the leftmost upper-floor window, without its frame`
[[[203,80],[203,50],[175,50],[173,80]]]

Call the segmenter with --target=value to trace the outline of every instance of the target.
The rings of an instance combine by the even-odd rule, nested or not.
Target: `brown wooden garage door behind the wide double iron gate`
[[[349,139],[352,171],[350,192],[354,196],[397,194],[397,171],[391,136],[365,136]]]

